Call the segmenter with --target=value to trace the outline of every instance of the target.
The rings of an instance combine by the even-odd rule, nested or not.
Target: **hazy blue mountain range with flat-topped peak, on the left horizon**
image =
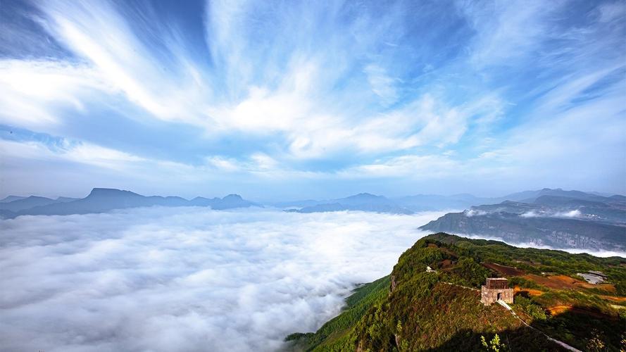
[[[15,218],[20,215],[105,213],[114,209],[144,206],[208,206],[217,210],[257,206],[256,203],[246,201],[237,194],[213,199],[196,197],[189,201],[178,196],[142,196],[131,191],[107,188],[94,188],[82,199],[65,197],[49,199],[40,196],[8,196],[6,199],[8,201],[0,202],[2,218]]]

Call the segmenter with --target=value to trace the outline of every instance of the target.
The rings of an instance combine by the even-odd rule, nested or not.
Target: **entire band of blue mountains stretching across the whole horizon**
[[[483,204],[483,205],[481,205]],[[626,197],[563,189],[522,191],[503,197],[471,194],[439,196],[418,194],[387,198],[361,193],[339,199],[270,203],[295,213],[358,210],[412,214],[418,211],[468,209],[449,213],[422,226],[422,230],[501,237],[551,246],[589,249],[626,248]],[[216,210],[260,206],[237,194],[224,198],[142,196],[120,189],[94,188],[82,199],[8,196],[0,200],[0,218],[19,215],[104,213],[146,206],[206,206]]]

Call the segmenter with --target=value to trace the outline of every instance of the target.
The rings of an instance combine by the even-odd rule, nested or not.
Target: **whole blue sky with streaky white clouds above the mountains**
[[[626,193],[624,1],[2,1],[0,196]]]

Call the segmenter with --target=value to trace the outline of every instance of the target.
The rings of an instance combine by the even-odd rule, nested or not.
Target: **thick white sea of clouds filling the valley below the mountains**
[[[443,213],[137,208],[0,220],[4,351],[274,351]]]

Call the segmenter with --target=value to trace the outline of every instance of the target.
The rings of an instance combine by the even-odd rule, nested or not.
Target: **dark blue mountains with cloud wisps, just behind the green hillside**
[[[541,189],[448,213],[421,230],[499,237],[511,243],[626,250],[626,197]]]

